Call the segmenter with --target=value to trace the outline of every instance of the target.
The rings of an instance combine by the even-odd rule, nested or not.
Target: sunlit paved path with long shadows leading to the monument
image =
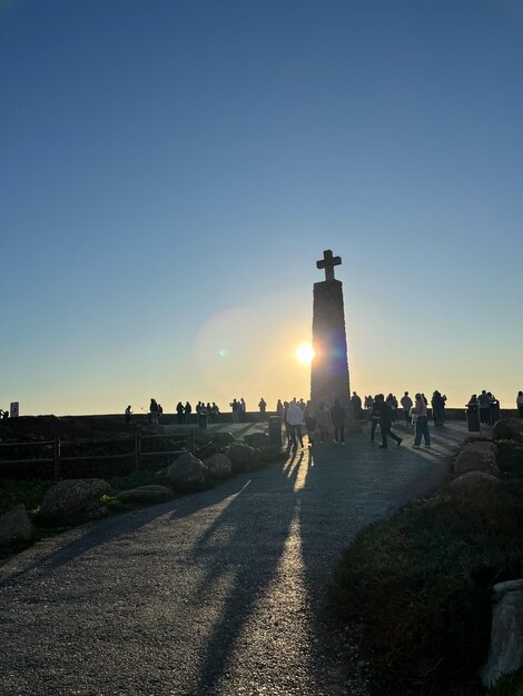
[[[451,425],[431,450],[353,435],[12,558],[0,567],[0,694],[344,693],[319,618],[336,559],[437,485],[464,435]]]

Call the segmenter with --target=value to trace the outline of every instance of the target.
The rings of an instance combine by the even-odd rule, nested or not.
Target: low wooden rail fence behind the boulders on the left
[[[145,441],[161,441],[161,440],[184,440],[185,447],[179,447],[177,449],[147,449],[144,448]],[[174,444],[174,443],[172,443]],[[100,446],[110,445],[111,448],[115,446],[117,448],[127,449],[128,451],[119,453],[119,454],[86,454],[86,455],[67,455],[67,449],[77,449],[85,448],[96,449]],[[17,454],[19,449],[22,450],[31,448],[32,450],[39,450],[41,456],[39,457],[20,457],[4,459],[3,453],[8,453],[9,448],[17,449]],[[0,477],[2,475],[2,466],[17,466],[17,465],[50,465],[52,464],[55,480],[59,480],[61,473],[62,464],[73,464],[73,463],[89,463],[89,461],[111,461],[111,460],[121,460],[127,459],[132,461],[134,468],[138,471],[142,463],[147,459],[154,457],[168,457],[172,455],[181,455],[185,451],[195,450],[195,436],[193,430],[188,430],[187,434],[175,434],[175,435],[142,435],[141,432],[136,432],[134,436],[125,436],[125,437],[114,437],[114,438],[103,438],[103,439],[75,439],[75,440],[61,440],[60,438],[56,438],[53,440],[36,440],[32,443],[0,443]]]

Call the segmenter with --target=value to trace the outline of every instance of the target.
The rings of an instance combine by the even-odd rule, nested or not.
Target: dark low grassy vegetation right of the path
[[[496,495],[444,486],[363,530],[345,553],[330,607],[363,625],[375,694],[485,693],[476,673],[489,646],[491,588],[523,575],[522,444],[502,443],[499,461],[507,480]]]

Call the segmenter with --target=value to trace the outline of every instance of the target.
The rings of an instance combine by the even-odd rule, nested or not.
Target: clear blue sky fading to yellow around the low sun
[[[523,3],[0,0],[0,406],[523,389]]]

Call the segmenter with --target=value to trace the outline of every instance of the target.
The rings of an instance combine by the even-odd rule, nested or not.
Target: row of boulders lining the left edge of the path
[[[158,473],[161,484],[120,490],[116,498],[122,503],[151,505],[169,500],[177,493],[204,490],[235,474],[253,471],[275,461],[280,447],[269,447],[265,434],[245,436],[250,444],[236,439],[230,432],[214,435],[213,443],[200,443],[196,451],[187,451]],[[257,444],[257,447],[251,444]],[[200,458],[200,456],[203,458]],[[110,485],[101,478],[76,478],[58,481],[43,496],[40,515],[63,524],[99,519],[108,508],[103,496]],[[29,541],[33,528],[24,505],[17,505],[0,517],[0,545]]]

